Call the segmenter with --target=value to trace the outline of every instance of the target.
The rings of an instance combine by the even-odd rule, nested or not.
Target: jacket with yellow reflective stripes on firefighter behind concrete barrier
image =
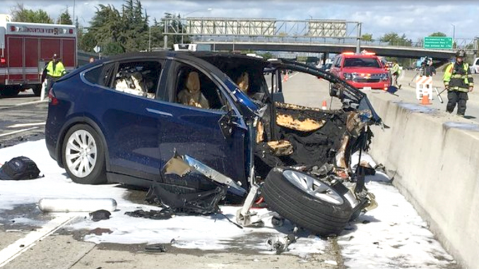
[[[444,85],[449,86],[449,90],[468,92],[469,87],[474,87],[473,75],[471,70],[469,70],[469,65],[466,63],[462,65],[449,64],[444,72],[443,80]]]

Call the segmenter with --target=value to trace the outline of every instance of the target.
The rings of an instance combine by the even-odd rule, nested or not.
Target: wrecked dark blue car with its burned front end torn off
[[[264,68],[273,70],[271,90]],[[276,102],[284,70],[329,80],[343,109]],[[154,186],[163,203],[187,197],[177,206],[196,213],[211,212],[226,188],[227,201],[244,203],[242,225],[259,221],[249,208],[261,192],[280,216],[329,235],[375,205],[362,169],[349,164],[368,148],[368,126],[380,123],[363,92],[295,61],[148,52],[95,61],[58,80],[45,136],[49,155],[78,184]]]

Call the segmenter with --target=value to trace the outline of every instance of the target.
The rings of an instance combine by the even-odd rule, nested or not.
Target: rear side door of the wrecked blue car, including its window
[[[158,177],[162,114],[152,108],[160,105],[155,93],[163,68],[163,61],[154,59],[120,61],[109,88],[97,90],[88,102],[85,111],[100,115],[114,181],[149,186],[144,179]]]

